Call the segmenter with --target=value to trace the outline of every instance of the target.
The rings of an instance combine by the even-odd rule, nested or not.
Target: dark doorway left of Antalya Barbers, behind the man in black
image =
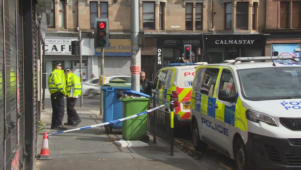
[[[154,63],[156,63],[154,56],[141,57],[141,71],[145,73],[145,76],[149,81],[154,80]]]

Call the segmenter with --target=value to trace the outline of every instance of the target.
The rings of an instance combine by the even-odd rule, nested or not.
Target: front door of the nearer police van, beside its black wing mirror
[[[220,78],[218,91],[225,89],[231,96],[236,96],[236,88],[234,77],[230,69],[224,68],[222,70],[222,76]],[[230,129],[234,128],[235,118],[235,102],[230,103],[218,98],[218,91],[216,92],[216,126],[215,142],[220,146],[220,150],[227,152],[226,148],[232,148],[231,137],[233,134],[229,134]]]

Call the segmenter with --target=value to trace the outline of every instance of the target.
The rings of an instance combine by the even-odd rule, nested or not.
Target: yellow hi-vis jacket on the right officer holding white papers
[[[67,85],[66,85],[66,91],[68,94],[68,97],[78,97],[82,95],[82,85],[80,84],[80,78],[74,74],[69,73],[66,76]]]

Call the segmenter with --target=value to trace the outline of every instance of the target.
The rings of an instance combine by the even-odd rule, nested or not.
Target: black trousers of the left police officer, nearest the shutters
[[[64,95],[61,92],[55,92],[50,95],[52,105],[51,127],[62,125],[64,118]]]

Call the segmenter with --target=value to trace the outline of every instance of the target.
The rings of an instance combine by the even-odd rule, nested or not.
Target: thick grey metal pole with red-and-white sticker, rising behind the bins
[[[131,0],[131,89],[140,92],[139,0]]]

